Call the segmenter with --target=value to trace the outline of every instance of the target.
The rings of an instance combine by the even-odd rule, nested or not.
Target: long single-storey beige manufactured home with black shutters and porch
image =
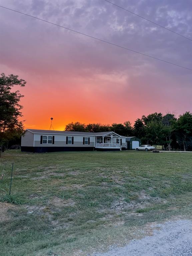
[[[126,137],[115,132],[71,132],[27,129],[21,138],[21,151],[125,150]]]

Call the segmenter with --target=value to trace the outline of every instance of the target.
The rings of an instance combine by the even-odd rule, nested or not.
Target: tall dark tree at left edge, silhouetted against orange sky
[[[26,81],[18,79],[17,75],[5,76],[2,73],[0,76],[0,156],[6,137],[9,135],[11,138],[17,130],[23,129],[22,122],[19,121],[19,117],[22,117],[21,109],[23,106],[19,102],[24,96],[18,90],[13,92],[12,87],[15,85],[23,87],[25,84]]]

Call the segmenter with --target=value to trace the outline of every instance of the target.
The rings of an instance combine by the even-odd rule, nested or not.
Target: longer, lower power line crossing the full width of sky
[[[61,26],[61,25],[58,25],[58,24],[52,23],[52,22],[47,21],[47,20],[43,20],[43,19],[37,18],[37,17],[35,17],[35,16],[29,15],[29,14],[26,14],[26,13],[23,13],[23,12],[19,12],[19,11],[16,11],[16,10],[13,10],[13,9],[10,9],[10,8],[7,8],[7,7],[1,6],[1,5],[0,5],[0,7],[5,8],[5,9],[10,10],[10,11],[13,11],[13,12],[17,12],[17,13],[20,13],[20,14],[23,14],[23,15],[26,15],[26,16],[29,16],[29,17],[32,17],[32,18],[35,18],[35,19],[37,19],[37,20],[41,20],[41,21],[47,22],[47,23],[49,23],[49,24],[52,24],[52,25],[55,25],[55,26],[58,26],[58,27],[61,27],[61,28],[67,29],[67,30],[69,30],[69,31],[72,31],[72,32],[78,33],[78,34],[80,34],[80,35],[84,35],[84,36],[87,36],[87,37],[90,37],[90,38],[96,39],[96,40],[98,40],[98,41],[101,41],[101,42],[104,42],[104,43],[107,43],[107,44],[111,44],[111,45],[117,46],[117,47],[122,48],[122,49],[124,49],[124,50],[128,50],[128,51],[131,51],[131,52],[134,52],[134,53],[138,53],[138,54],[140,54],[140,55],[143,55],[143,56],[146,56],[146,57],[149,57],[149,58],[155,59],[155,60],[159,60],[159,61],[162,61],[162,62],[165,62],[165,63],[171,64],[171,65],[174,65],[174,66],[177,66],[177,67],[180,67],[180,68],[184,68],[184,69],[188,69],[188,70],[192,71],[192,69],[191,69],[191,68],[184,67],[184,66],[181,66],[181,65],[178,65],[178,64],[175,64],[175,63],[172,63],[172,62],[166,61],[166,60],[162,60],[162,59],[159,59],[159,58],[156,58],[156,57],[153,57],[153,56],[150,56],[150,55],[147,55],[147,54],[144,54],[144,53],[138,52],[138,51],[134,51],[134,50],[132,50],[132,49],[129,49],[129,48],[126,48],[126,47],[120,46],[120,45],[118,45],[118,44],[114,44],[114,43],[111,43],[111,42],[108,42],[108,41],[105,41],[105,40],[99,39],[99,38],[97,38],[97,37],[93,37],[93,36],[90,36],[90,35],[87,35],[87,34],[84,34],[84,33],[78,32],[78,31],[76,31],[76,30],[73,30],[73,29],[70,29],[70,28],[63,27],[63,26]]]

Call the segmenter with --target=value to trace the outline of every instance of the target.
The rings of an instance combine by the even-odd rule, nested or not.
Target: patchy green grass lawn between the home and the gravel
[[[87,255],[192,216],[192,153],[9,150],[1,174],[1,256]]]

